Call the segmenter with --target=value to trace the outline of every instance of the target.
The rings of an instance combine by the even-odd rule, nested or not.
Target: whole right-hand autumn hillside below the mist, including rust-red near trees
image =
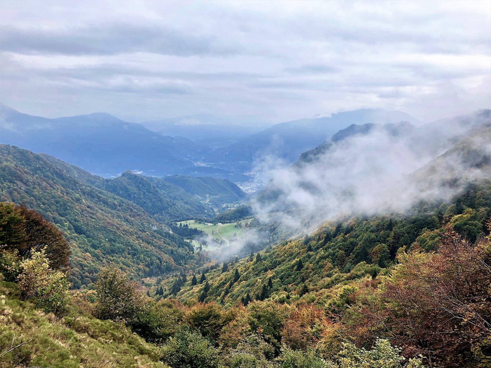
[[[491,181],[412,213],[327,223],[245,259],[169,279],[155,296],[205,303],[192,307],[193,318],[207,320],[191,319],[196,328],[221,349],[264,364],[253,367],[270,367],[268,354],[288,349],[305,359],[292,358],[293,367],[331,367],[322,358],[333,359],[349,346],[343,342],[368,349],[381,337],[407,358],[421,354],[428,367],[488,367],[491,258],[483,237],[490,234]],[[220,324],[228,314],[233,320]],[[346,362],[340,367],[364,367],[356,358]]]

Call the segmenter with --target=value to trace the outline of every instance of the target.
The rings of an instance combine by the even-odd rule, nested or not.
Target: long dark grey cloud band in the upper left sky
[[[231,48],[216,45],[213,38],[184,34],[162,26],[131,24],[102,24],[69,29],[0,27],[0,49],[16,53],[110,55],[150,52],[191,56],[237,52],[238,46]]]

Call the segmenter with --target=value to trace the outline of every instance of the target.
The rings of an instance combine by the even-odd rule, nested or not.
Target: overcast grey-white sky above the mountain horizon
[[[491,1],[0,3],[0,101],[130,121],[278,123],[381,107],[422,121],[491,101]]]

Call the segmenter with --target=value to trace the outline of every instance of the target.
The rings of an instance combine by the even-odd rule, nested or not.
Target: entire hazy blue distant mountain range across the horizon
[[[152,131],[107,113],[48,119],[0,104],[0,143],[45,153],[103,177],[129,169],[148,176],[212,176],[238,183],[250,181],[244,173],[262,160],[295,162],[351,124],[418,123],[403,112],[371,109],[280,123],[259,132],[200,119],[203,124],[185,124],[192,117],[148,123],[158,130]]]

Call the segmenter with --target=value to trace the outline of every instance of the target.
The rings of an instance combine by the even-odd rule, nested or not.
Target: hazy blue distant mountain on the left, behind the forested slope
[[[246,180],[226,168],[196,165],[210,150],[188,138],[162,135],[107,113],[48,119],[0,105],[0,129],[0,143],[46,153],[104,177],[130,169]]]

